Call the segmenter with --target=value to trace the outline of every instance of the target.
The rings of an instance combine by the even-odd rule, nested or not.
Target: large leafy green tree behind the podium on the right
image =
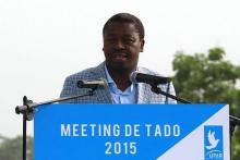
[[[240,115],[240,66],[224,59],[221,48],[188,56],[177,52],[173,84],[177,95],[196,103],[228,103],[230,113]],[[240,132],[232,139],[232,158],[240,160]]]

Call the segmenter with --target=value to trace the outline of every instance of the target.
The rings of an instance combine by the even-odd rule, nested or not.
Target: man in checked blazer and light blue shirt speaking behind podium
[[[86,94],[87,89],[77,88],[80,79],[105,78],[107,89],[97,89],[91,97],[69,100],[73,103],[176,103],[172,99],[154,94],[147,84],[133,84],[133,71],[146,74],[154,72],[137,67],[139,54],[144,48],[144,27],[142,22],[129,13],[110,17],[103,29],[105,62],[96,67],[84,70],[67,77],[60,97]],[[161,90],[175,95],[173,86],[159,85]]]

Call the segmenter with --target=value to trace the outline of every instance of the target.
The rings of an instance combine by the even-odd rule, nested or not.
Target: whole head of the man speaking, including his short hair
[[[104,53],[109,70],[133,71],[144,47],[142,22],[129,13],[111,16],[104,26]]]

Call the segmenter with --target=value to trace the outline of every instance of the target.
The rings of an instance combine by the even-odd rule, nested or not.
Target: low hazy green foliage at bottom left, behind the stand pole
[[[15,138],[0,137],[0,160],[21,160],[22,159],[22,146],[23,137],[17,136]],[[27,137],[27,160],[33,160],[33,138]]]

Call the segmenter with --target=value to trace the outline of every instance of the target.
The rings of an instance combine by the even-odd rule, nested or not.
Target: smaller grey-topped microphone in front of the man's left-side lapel
[[[91,88],[91,89],[105,89],[108,84],[104,78],[99,79],[83,79],[77,82],[79,88]]]

